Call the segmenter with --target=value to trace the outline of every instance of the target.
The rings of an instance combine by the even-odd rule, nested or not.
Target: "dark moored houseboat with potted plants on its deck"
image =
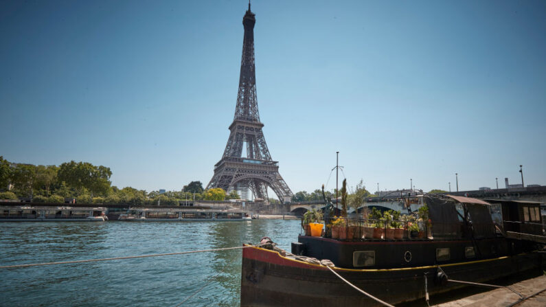
[[[486,201],[437,194],[404,202],[413,214],[398,220],[365,214],[341,222],[327,217],[328,204],[322,233],[299,235],[291,253],[272,244],[243,249],[240,305],[381,306],[332,271],[376,299],[400,304],[462,286],[456,281],[485,282],[546,263],[537,251],[545,237],[526,225],[541,223],[537,204],[499,202],[492,210]],[[509,228],[531,231],[534,240],[508,238]]]

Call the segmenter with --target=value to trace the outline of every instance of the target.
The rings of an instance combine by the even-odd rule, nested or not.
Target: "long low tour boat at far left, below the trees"
[[[104,207],[40,207],[2,206],[0,221],[3,222],[104,222]]]

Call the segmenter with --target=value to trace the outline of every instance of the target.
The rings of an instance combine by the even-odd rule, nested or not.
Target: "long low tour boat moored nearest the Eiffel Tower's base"
[[[244,211],[230,211],[218,209],[153,209],[132,208],[127,214],[121,214],[118,220],[125,221],[237,221],[251,220],[251,216]]]

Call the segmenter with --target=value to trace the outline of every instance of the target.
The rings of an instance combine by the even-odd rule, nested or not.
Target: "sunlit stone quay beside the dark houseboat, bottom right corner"
[[[546,288],[546,275],[531,278],[529,280],[523,280],[511,285],[514,290],[527,297],[533,295],[538,291]],[[507,288],[498,288],[492,291],[486,291],[475,295],[470,295],[456,301],[447,302],[444,304],[434,305],[437,307],[462,307],[462,306],[510,306],[520,299],[519,295],[513,293]],[[431,302],[433,303],[433,302]],[[525,301],[517,304],[520,307],[543,307],[546,306],[546,291],[538,293],[534,297],[525,299]]]

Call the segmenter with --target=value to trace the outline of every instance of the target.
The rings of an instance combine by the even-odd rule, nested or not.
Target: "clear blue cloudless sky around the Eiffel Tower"
[[[208,183],[247,1],[1,1],[0,155]],[[253,1],[260,119],[293,192],[546,184],[545,1]],[[343,174],[340,173],[343,178]],[[335,186],[335,174],[328,188]]]

